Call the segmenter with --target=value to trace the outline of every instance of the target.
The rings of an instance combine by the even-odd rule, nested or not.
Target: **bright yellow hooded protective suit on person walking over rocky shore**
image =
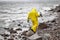
[[[40,15],[38,14],[36,8],[33,8],[29,13],[28,13],[28,20],[31,19],[32,21],[32,27],[31,29],[36,32],[37,28],[38,28],[38,17]]]

